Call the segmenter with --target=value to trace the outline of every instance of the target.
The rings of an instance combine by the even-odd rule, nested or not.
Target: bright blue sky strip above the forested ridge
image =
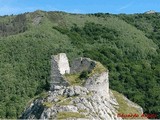
[[[0,15],[35,10],[70,13],[143,13],[160,12],[160,0],[0,0]]]

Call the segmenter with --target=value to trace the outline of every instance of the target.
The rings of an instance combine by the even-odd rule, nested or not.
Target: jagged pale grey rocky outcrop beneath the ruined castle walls
[[[114,101],[115,105],[118,105]],[[73,117],[72,114],[75,116]],[[77,115],[77,116],[76,116]],[[23,119],[121,119],[110,100],[85,87],[69,86],[35,100],[23,113]]]

